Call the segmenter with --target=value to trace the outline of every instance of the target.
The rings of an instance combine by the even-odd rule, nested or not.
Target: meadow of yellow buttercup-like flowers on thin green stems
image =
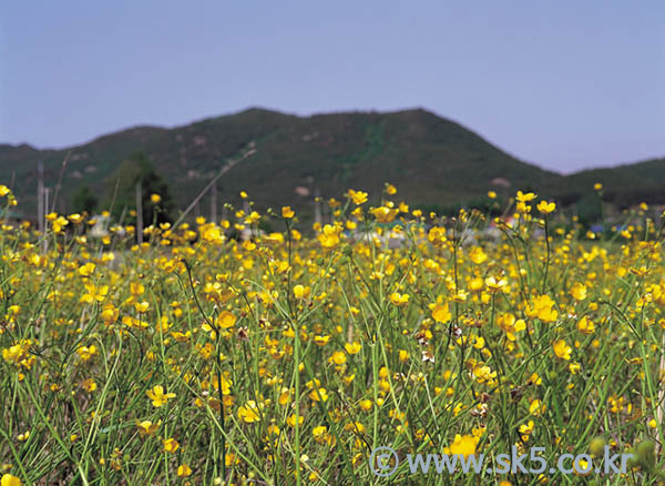
[[[663,483],[663,229],[645,205],[600,234],[533,193],[442,217],[387,184],[376,204],[327,201],[314,229],[247,203],[136,244],[79,214],[39,234],[0,194],[2,486]],[[605,445],[634,454],[626,474],[369,467],[379,446],[554,464]]]

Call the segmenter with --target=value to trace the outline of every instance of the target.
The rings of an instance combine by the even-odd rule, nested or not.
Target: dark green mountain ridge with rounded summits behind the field
[[[397,185],[399,200],[439,207],[478,200],[492,189],[538,190],[573,202],[595,182],[605,184],[616,200],[646,194],[662,201],[658,188],[665,184],[665,160],[561,175],[520,161],[421,109],[313,117],[249,109],[173,129],[135,126],[65,150],[0,145],[0,181],[14,181],[21,207],[29,213],[35,205],[38,161],[44,162],[45,185],[54,186],[69,154],[59,205],[66,211],[80,185],[108,194],[119,164],[141,151],[184,207],[227,161],[248,149],[254,155],[219,181],[219,201],[237,204],[238,192],[245,190],[262,207],[307,209],[311,198],[298,195],[296,189],[323,198],[339,199],[349,188],[378,196],[385,182]]]

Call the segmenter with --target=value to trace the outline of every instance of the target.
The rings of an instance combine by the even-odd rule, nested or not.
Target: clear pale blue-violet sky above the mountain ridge
[[[0,143],[420,107],[559,172],[665,156],[665,2],[0,0]]]

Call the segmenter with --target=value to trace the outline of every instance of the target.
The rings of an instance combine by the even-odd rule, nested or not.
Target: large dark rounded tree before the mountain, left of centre
[[[143,223],[150,225],[153,221],[157,224],[173,222],[174,203],[168,184],[155,172],[150,159],[141,152],[135,152],[124,160],[109,180],[109,194],[112,196],[115,193],[112,216],[117,220],[126,209],[124,222],[135,223],[136,216],[131,212],[136,211],[139,182],[142,192]],[[161,200],[153,202],[152,194],[158,194]]]

